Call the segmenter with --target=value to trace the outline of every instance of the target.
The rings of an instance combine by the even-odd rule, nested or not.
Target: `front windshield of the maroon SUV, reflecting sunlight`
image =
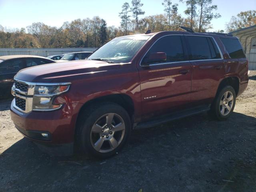
[[[148,38],[149,35],[138,35],[113,39],[92,53],[88,59],[105,59],[115,63],[130,62]]]

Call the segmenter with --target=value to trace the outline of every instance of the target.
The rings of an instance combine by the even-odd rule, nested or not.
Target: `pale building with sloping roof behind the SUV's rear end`
[[[249,70],[256,70],[256,25],[232,31],[230,34],[239,38],[249,61]]]

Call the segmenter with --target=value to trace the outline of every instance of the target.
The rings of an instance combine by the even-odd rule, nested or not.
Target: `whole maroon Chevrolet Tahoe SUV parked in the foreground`
[[[228,34],[157,32],[115,38],[86,60],[21,70],[16,128],[39,146],[116,154],[132,129],[209,111],[226,120],[248,84],[248,62]]]

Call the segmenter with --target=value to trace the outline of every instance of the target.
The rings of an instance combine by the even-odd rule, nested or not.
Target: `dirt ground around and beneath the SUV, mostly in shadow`
[[[256,71],[230,118],[201,114],[132,132],[106,160],[51,157],[23,138],[0,103],[0,192],[256,191]]]

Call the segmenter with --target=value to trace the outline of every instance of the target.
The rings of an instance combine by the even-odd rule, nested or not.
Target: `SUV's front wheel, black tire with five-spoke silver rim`
[[[131,120],[118,104],[100,103],[82,112],[78,130],[78,145],[84,153],[108,158],[120,151],[128,140]]]

